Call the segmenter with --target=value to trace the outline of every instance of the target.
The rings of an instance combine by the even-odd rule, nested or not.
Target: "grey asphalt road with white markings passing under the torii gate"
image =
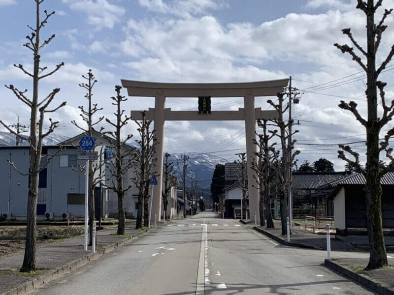
[[[278,245],[234,220],[202,212],[167,223],[33,294],[374,294],[322,266],[325,255]]]

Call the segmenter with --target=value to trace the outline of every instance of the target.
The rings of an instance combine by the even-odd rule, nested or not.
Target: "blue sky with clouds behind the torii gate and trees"
[[[41,51],[42,65],[51,69],[65,62],[57,73],[41,80],[40,97],[59,87],[55,102],[67,101],[52,118],[60,121],[56,133],[74,136],[78,129],[78,106],[86,105],[82,75],[92,69],[98,83],[94,101],[98,114],[114,119],[110,97],[121,79],[152,82],[251,82],[292,76],[300,89],[300,102],[293,107],[299,125],[295,135],[298,163],[321,157],[336,170],[344,162],[337,158],[337,144],[355,143],[365,160],[365,130],[340,100],[354,100],[366,116],[365,76],[360,66],[333,44],[350,44],[341,29],[352,28],[365,46],[365,15],[356,0],[44,0],[42,10],[55,11],[42,36],[56,37]],[[384,0],[384,8],[394,0]],[[13,66],[32,68],[33,56],[22,45],[34,24],[34,0],[0,0],[0,85],[28,89],[32,79]],[[43,13],[42,13],[43,14]],[[377,63],[389,53],[394,40],[393,15],[389,16]],[[381,80],[386,99],[394,99],[394,63]],[[122,93],[127,96],[126,89]],[[9,89],[0,87],[0,118],[8,123],[29,125],[29,109]],[[256,107],[269,108],[257,97]],[[275,99],[275,97],[273,97]],[[154,107],[153,98],[129,97],[126,111]],[[197,110],[197,98],[167,98],[172,110]],[[237,110],[241,98],[212,98],[212,110]],[[381,110],[381,106],[379,106]],[[299,120],[299,121],[298,121]],[[111,130],[107,123],[105,130]],[[393,126],[390,122],[383,128]],[[4,127],[0,131],[6,131]],[[125,133],[137,134],[135,123]],[[221,156],[229,161],[245,150],[242,121],[167,121],[164,150],[194,151]],[[384,155],[381,156],[382,159]]]

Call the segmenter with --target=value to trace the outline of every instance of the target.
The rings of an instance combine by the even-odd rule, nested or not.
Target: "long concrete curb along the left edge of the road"
[[[82,257],[82,258],[78,258],[76,260],[73,260],[69,263],[67,263],[64,266],[58,267],[57,269],[53,269],[50,272],[47,272],[45,274],[42,274],[40,276],[37,276],[33,279],[31,279],[30,281],[24,282],[23,284],[21,284],[20,286],[11,289],[5,293],[0,293],[0,295],[26,295],[30,292],[32,292],[34,289],[38,288],[39,286],[42,286],[54,279],[57,279],[59,277],[61,277],[62,275],[70,272],[71,270],[79,267],[79,266],[83,266],[87,263],[89,263],[90,261],[93,261],[95,259],[98,259],[99,257],[103,256],[106,253],[109,253],[113,250],[115,250],[116,248],[127,244],[133,240],[136,240],[138,238],[140,238],[141,236],[145,236],[148,233],[151,233],[155,231],[155,229],[149,229],[149,230],[144,230],[139,232],[136,235],[133,236],[128,236],[118,242],[114,242],[112,244],[106,245],[105,247],[103,247],[102,249],[99,249],[98,251],[96,251],[96,253],[88,253],[86,256]]]

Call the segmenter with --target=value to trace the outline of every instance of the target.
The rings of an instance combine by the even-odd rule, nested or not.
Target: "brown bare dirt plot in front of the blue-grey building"
[[[59,238],[79,236],[83,226],[37,226],[37,246],[59,241]],[[26,226],[0,227],[0,256],[25,249]],[[1,239],[10,238],[10,239]]]

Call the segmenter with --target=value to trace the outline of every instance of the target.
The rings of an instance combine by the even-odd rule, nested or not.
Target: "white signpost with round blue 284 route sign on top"
[[[84,236],[84,248],[85,251],[88,251],[88,219],[89,219],[89,160],[92,158],[93,160],[97,159],[97,152],[91,152],[91,150],[95,146],[95,140],[91,136],[83,136],[79,141],[79,147],[85,151],[86,153],[78,154],[78,159],[86,160],[85,164],[85,236]],[[95,154],[91,156],[91,154]],[[81,158],[80,158],[81,157]],[[96,241],[92,241],[92,244],[96,244]]]

